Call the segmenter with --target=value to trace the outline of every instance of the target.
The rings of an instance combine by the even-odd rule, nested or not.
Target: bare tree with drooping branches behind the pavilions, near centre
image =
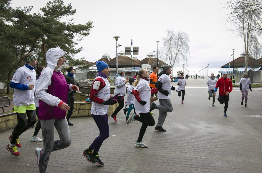
[[[189,55],[189,38],[187,33],[175,33],[173,29],[167,30],[163,42],[163,56],[169,62],[171,69],[175,63],[179,63],[181,60],[187,64],[187,55]]]

